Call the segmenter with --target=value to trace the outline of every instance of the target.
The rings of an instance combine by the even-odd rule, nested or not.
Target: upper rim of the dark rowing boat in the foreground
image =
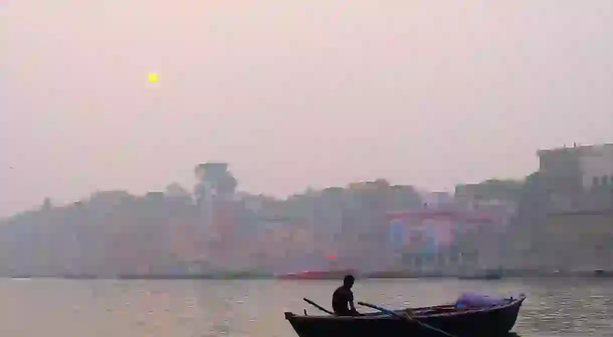
[[[463,315],[468,315],[468,314],[476,314],[479,312],[492,312],[492,311],[500,311],[500,310],[504,310],[504,309],[508,309],[512,306],[520,306],[522,305],[522,303],[524,302],[524,300],[526,299],[526,295],[522,294],[517,298],[512,298],[512,301],[510,301],[509,303],[506,303],[504,305],[500,305],[500,306],[493,306],[490,308],[470,308],[470,309],[466,309],[463,311],[453,311],[453,312],[441,312],[440,314],[432,314],[432,315],[415,315],[415,316],[411,316],[411,318],[414,319],[427,319],[430,317],[457,317],[457,316],[463,316]],[[440,305],[440,306],[427,306],[427,307],[423,307],[423,308],[414,308],[414,310],[420,310],[420,309],[428,309],[428,308],[440,308],[446,305]],[[407,309],[413,309],[413,308],[407,308]],[[397,311],[405,311],[405,309],[402,310],[393,310],[394,312]],[[287,312],[286,312],[287,314]],[[305,315],[297,315],[294,314],[293,312],[289,312],[289,314],[291,314],[291,316],[286,316],[287,320],[291,320],[291,319],[340,319],[340,320],[354,320],[354,319],[399,319],[402,318],[402,316],[305,316]]]

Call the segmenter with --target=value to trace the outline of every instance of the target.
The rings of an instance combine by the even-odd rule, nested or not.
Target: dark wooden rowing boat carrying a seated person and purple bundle
[[[509,333],[524,300],[525,295],[522,294],[492,308],[457,309],[454,305],[441,305],[394,311],[402,316],[409,314],[413,319],[381,312],[360,317],[307,316],[285,312],[285,318],[300,337],[445,337],[436,329],[455,337],[492,337]]]

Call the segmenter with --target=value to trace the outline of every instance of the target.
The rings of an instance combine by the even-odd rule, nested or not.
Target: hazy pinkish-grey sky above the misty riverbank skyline
[[[611,0],[4,0],[0,214],[205,161],[280,196],[520,177],[613,140],[612,36]]]

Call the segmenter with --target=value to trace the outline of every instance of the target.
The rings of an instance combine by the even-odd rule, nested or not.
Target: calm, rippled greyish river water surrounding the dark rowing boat
[[[295,337],[284,311],[329,308],[335,281],[0,280],[0,336]],[[358,280],[356,301],[438,305],[461,292],[528,295],[520,336],[613,336],[613,279]]]

